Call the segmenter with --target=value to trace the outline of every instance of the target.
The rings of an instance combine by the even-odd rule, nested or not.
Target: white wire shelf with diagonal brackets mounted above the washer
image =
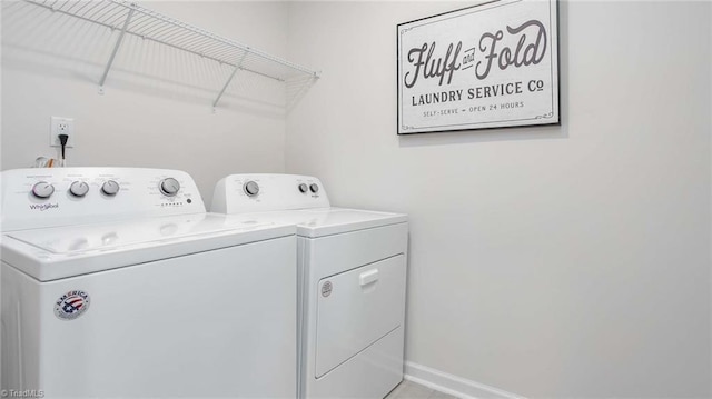
[[[24,0],[24,2],[119,32],[99,81],[100,92],[103,92],[103,83],[125,36],[149,40],[231,68],[233,72],[212,102],[214,108],[238,71],[284,82],[288,91],[299,92],[306,91],[319,78],[316,71],[132,2],[122,0]]]

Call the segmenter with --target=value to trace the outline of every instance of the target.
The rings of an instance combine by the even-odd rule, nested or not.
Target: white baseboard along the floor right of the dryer
[[[448,375],[429,367],[417,365],[411,361],[405,362],[406,380],[435,389],[443,393],[452,395],[463,399],[478,398],[503,398],[503,399],[525,399],[520,395],[490,387],[484,383],[471,381],[468,379]]]

